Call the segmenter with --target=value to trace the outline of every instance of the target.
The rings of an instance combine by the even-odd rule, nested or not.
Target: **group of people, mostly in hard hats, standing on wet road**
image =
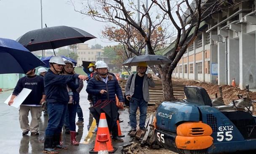
[[[19,122],[23,131],[22,135],[27,135],[29,131],[31,131],[31,135],[38,135],[41,104],[47,102],[47,113],[45,114],[48,115],[48,126],[45,130],[43,151],[55,154],[59,153],[59,149],[67,149],[67,146],[63,146],[61,142],[61,131],[64,124],[66,130],[70,132],[71,144],[79,144],[75,139],[75,117],[77,113],[78,117],[83,118],[83,115],[81,115],[83,112],[79,105],[79,92],[83,88],[83,81],[87,80],[86,92],[88,92],[88,100],[92,105],[98,101],[106,100],[115,103],[116,98],[123,105],[124,97],[115,75],[109,72],[108,65],[103,61],[98,61],[95,65],[89,64],[88,77],[76,74],[74,64],[68,60],[63,60],[60,56],[53,56],[49,64],[50,69],[47,72],[43,68],[38,70],[42,75],[41,77],[35,74],[35,69],[32,69],[26,73],[25,77],[19,79],[8,104],[13,103],[14,98],[19,95],[23,88],[32,90],[20,106]],[[136,74],[128,77],[125,85],[125,98],[130,101],[131,131],[136,130],[137,108],[140,111],[139,128],[146,129],[149,86],[155,86],[151,74],[146,74],[147,64],[145,62],[139,63],[137,70]],[[28,121],[29,111],[32,115],[30,126]],[[77,123],[83,123],[83,119],[78,119]],[[117,124],[111,126],[109,131],[112,133],[113,141],[123,142],[123,139],[118,137]]]

